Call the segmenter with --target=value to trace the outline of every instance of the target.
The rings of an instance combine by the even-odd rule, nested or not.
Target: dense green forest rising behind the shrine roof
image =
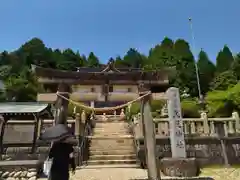
[[[183,99],[183,106],[194,109],[198,96],[194,56],[188,42],[183,39],[173,41],[164,38],[162,42],[141,54],[136,49],[129,49],[123,57],[111,57],[116,67],[141,67],[145,70],[175,66],[171,75],[171,85],[180,88],[181,94],[188,94]],[[216,64],[213,62],[216,61]],[[81,54],[81,50],[52,49],[46,47],[41,39],[33,38],[13,52],[0,54],[0,78],[5,83],[1,101],[33,101],[41,86],[31,73],[31,64],[42,67],[76,70],[76,67],[98,67],[101,59],[91,52]],[[225,116],[240,108],[240,53],[234,55],[227,45],[219,50],[216,60],[209,59],[207,52],[201,50],[197,64],[199,67],[201,90],[206,97],[211,115]],[[191,110],[190,110],[191,111]],[[221,112],[221,113],[219,113]]]

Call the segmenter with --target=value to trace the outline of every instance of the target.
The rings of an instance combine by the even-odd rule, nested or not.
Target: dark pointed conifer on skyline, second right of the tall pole
[[[234,58],[229,47],[225,45],[223,49],[218,53],[216,59],[216,70],[218,73],[222,73],[230,69]]]

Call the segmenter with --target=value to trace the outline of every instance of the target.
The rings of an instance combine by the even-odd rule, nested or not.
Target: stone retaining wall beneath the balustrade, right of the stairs
[[[200,166],[225,164],[223,157],[223,145],[226,147],[226,154],[229,164],[240,163],[240,138],[222,138],[221,144],[218,138],[213,137],[189,137],[185,138],[187,157],[195,157]],[[144,142],[139,139],[139,158],[145,164]],[[171,146],[169,138],[157,138],[157,156],[171,157]]]

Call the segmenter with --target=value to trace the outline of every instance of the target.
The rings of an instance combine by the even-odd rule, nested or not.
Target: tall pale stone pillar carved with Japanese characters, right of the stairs
[[[169,88],[167,90],[167,97],[172,157],[185,158],[186,145],[184,140],[183,121],[178,88]]]

